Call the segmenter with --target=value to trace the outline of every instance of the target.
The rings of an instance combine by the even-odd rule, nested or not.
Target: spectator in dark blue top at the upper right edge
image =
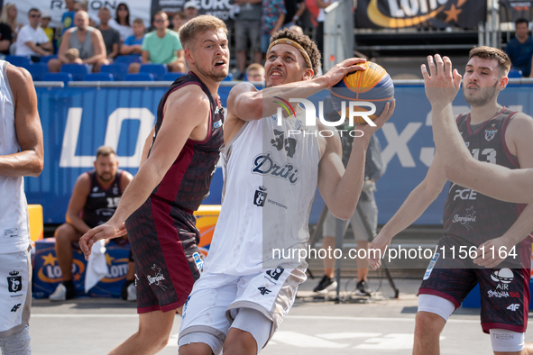
[[[522,77],[529,77],[533,57],[533,39],[528,35],[528,20],[515,21],[515,37],[507,43],[505,52],[509,56],[511,69],[521,70]]]

